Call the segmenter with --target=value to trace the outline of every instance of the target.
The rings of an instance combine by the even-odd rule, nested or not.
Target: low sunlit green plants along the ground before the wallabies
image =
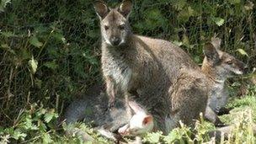
[[[232,132],[228,135],[228,139],[221,143],[248,143],[253,144],[256,137],[253,136],[253,121],[256,120],[256,87],[250,86],[248,95],[243,98],[232,99],[228,108],[231,112],[228,115],[220,116],[221,120],[232,125]],[[83,143],[80,137],[76,135],[65,136],[63,130],[70,128],[79,128],[87,131],[93,136],[95,141],[89,143],[112,143],[108,139],[99,136],[93,128],[84,123],[77,122],[74,125],[57,126],[58,114],[55,109],[45,109],[43,105],[31,104],[29,109],[21,110],[12,127],[1,128],[0,143]],[[163,136],[162,132],[148,133],[143,141],[146,143],[212,143],[215,139],[207,136],[207,131],[216,128],[211,123],[203,120],[196,123],[195,130],[180,123],[180,128],[171,131],[168,136]],[[195,138],[191,138],[194,135]],[[131,141],[126,138],[127,141]]]

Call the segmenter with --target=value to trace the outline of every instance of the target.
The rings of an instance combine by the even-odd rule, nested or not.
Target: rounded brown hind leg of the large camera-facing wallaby
[[[204,79],[197,73],[188,72],[181,75],[171,89],[171,119],[173,125],[181,120],[185,125],[194,126],[200,113],[205,113],[207,88]]]

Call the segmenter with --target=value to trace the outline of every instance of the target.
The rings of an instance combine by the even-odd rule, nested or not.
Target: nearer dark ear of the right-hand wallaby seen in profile
[[[205,45],[204,53],[207,60],[213,62],[213,64],[216,64],[218,61],[220,61],[218,51],[216,50],[215,46],[211,43],[207,43]]]

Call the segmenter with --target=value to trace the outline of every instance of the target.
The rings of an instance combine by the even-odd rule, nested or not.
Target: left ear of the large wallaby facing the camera
[[[99,16],[99,19],[104,19],[104,17],[109,13],[109,8],[103,1],[94,2],[93,7]]]

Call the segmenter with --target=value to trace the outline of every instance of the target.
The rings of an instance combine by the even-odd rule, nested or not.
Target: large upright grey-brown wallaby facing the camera
[[[100,19],[101,64],[109,106],[115,104],[118,92],[126,101],[136,95],[134,99],[151,110],[162,131],[168,133],[179,120],[192,124],[207,103],[207,82],[200,67],[167,40],[133,35],[128,21],[131,0],[116,8],[96,1],[94,8]]]

